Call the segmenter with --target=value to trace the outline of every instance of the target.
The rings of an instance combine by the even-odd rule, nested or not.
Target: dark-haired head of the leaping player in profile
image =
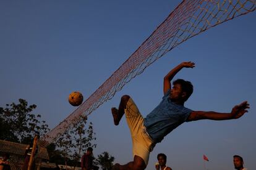
[[[171,89],[171,100],[173,102],[186,102],[193,93],[193,85],[190,81],[184,79],[176,79],[173,81],[173,88]]]

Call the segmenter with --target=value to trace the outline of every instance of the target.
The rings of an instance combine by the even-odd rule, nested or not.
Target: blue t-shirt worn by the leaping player
[[[160,104],[144,119],[144,126],[155,144],[161,142],[164,136],[184,123],[192,112],[189,108],[171,102],[169,93],[170,90],[164,94]]]

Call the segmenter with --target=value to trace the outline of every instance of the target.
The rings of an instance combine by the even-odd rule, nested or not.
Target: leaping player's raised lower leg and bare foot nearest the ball
[[[114,125],[117,126],[119,124],[122,116],[124,115],[124,110],[126,109],[126,104],[129,99],[130,99],[129,95],[123,95],[121,97],[121,101],[120,101],[118,110],[115,107],[111,108],[111,112],[112,112],[112,115],[114,118]]]

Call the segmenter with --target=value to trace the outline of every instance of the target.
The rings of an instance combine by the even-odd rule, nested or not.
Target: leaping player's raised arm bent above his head
[[[163,87],[163,92],[166,94],[169,89],[171,89],[171,80],[174,78],[174,76],[179,72],[182,68],[194,68],[195,63],[193,62],[182,62],[176,67],[173,68],[173,70],[169,71],[169,73],[164,76],[164,87]]]

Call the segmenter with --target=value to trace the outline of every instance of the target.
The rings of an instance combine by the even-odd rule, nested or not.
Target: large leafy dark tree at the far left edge
[[[11,142],[30,144],[35,135],[41,136],[49,131],[48,124],[40,121],[41,115],[31,113],[36,105],[19,99],[19,103],[0,107],[0,139]]]

